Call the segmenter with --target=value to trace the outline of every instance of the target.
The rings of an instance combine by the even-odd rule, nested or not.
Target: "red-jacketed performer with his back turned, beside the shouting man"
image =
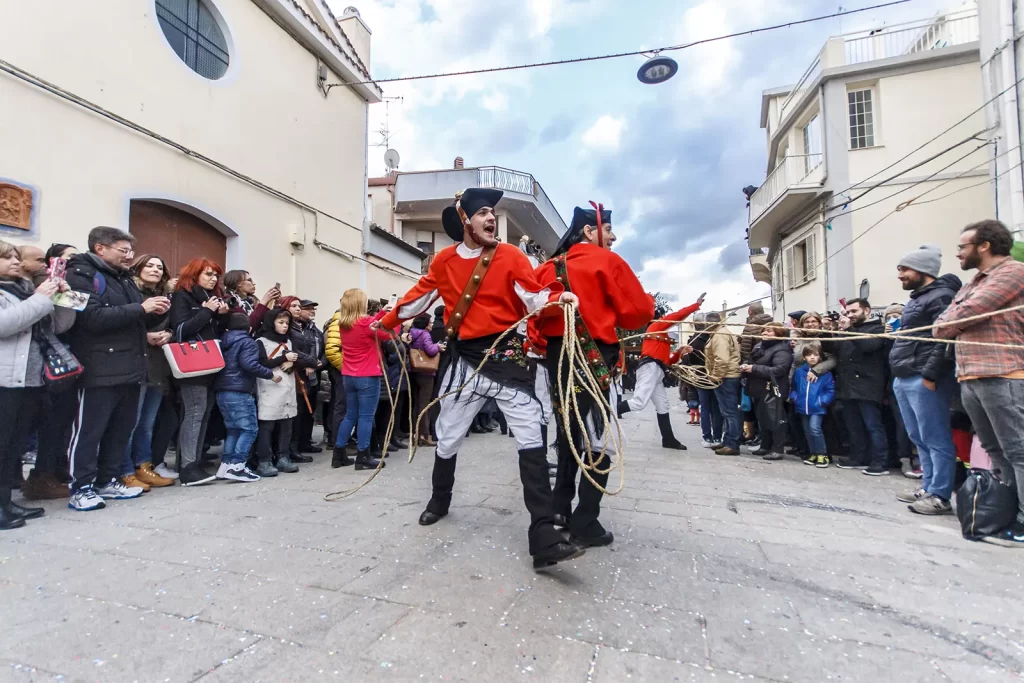
[[[572,224],[562,236],[554,255],[536,272],[540,282],[557,279],[566,290],[580,297],[577,337],[587,353],[594,376],[601,383],[608,405],[612,408],[618,400],[613,381],[614,375],[620,371],[618,335],[615,328],[635,330],[654,316],[654,300],[644,291],[629,264],[611,252],[614,241],[611,211],[600,205],[593,211],[577,207],[572,214]],[[575,511],[571,512],[579,467],[569,450],[570,439],[581,458],[586,459],[588,453],[582,425],[578,424],[575,415],[569,415],[571,433],[566,434],[562,421],[563,407],[559,405],[556,379],[558,358],[564,345],[564,322],[555,316],[535,318],[530,321],[530,338],[535,337],[535,329],[548,340],[546,362],[552,382],[551,399],[555,404],[558,439],[558,470],[554,493],[557,522],[566,526],[571,540],[582,546],[606,546],[613,541],[613,537],[598,521],[603,494],[586,475],[580,477],[580,503]],[[567,374],[568,368],[562,368],[563,386]],[[608,456],[612,454],[606,451],[602,457],[601,451],[605,445],[611,449],[611,444],[606,443],[606,436],[612,437],[614,434],[604,433],[604,421],[595,415],[594,399],[588,392],[578,392],[575,400],[587,426],[587,438],[590,441],[590,452],[594,454],[594,462],[598,469],[607,470],[610,467]],[[612,417],[612,429],[616,429],[614,420]],[[608,483],[608,474],[609,472],[597,471],[590,473],[602,488]]]

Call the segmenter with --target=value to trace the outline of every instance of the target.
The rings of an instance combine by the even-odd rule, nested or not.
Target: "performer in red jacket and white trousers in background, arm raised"
[[[685,319],[700,308],[703,295],[692,306],[680,308],[669,313],[659,323],[651,323],[647,328],[649,337],[644,337],[640,349],[640,362],[637,365],[637,387],[633,397],[618,403],[618,417],[630,411],[642,411],[647,403],[654,402],[657,413],[657,428],[662,431],[662,447],[675,451],[685,451],[686,446],[679,442],[672,433],[672,420],[669,418],[669,394],[665,390],[665,373],[671,365],[669,352],[672,350],[672,338],[668,330],[675,323]]]

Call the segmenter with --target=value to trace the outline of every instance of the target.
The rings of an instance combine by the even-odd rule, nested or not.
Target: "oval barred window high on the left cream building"
[[[227,72],[227,40],[206,0],[157,0],[157,20],[174,52],[212,81]]]

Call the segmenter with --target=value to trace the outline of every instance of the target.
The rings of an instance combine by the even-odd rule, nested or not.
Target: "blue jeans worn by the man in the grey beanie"
[[[949,425],[953,389],[952,377],[937,382],[935,391],[925,387],[920,375],[893,380],[893,393],[899,401],[906,433],[918,446],[921,458],[924,473],[921,485],[929,494],[947,501],[956,477],[956,447]]]

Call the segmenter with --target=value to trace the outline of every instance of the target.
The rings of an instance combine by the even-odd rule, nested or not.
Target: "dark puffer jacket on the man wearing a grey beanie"
[[[931,285],[910,293],[910,300],[903,306],[903,319],[900,327],[904,330],[929,327],[935,323],[942,311],[949,306],[956,292],[964,283],[956,275],[949,273],[937,279]],[[913,337],[931,339],[931,329],[915,332],[907,339],[897,339],[889,352],[889,366],[893,377],[912,377],[921,375],[926,380],[935,382],[944,375],[951,375],[953,365],[946,358],[946,345],[932,342],[913,341]]]

